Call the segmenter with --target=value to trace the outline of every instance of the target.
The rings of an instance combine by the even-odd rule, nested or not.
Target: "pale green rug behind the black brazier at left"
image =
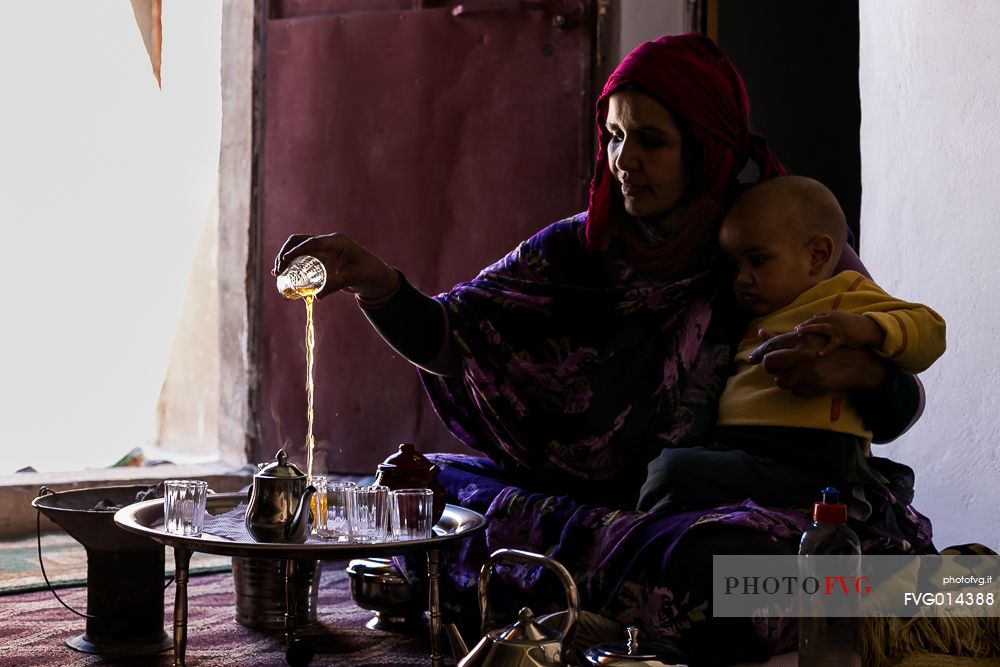
[[[164,558],[166,573],[172,575],[174,554],[170,547],[166,547]],[[42,533],[42,562],[53,588],[87,582],[87,550],[63,531]],[[190,567],[193,574],[224,572],[232,567],[232,561],[225,556],[196,553]],[[0,595],[45,588],[38,565],[37,536],[0,540]]]

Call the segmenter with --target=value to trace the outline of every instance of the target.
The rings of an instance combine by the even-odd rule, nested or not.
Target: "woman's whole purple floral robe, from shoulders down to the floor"
[[[794,646],[794,619],[713,619],[713,554],[793,554],[805,508],[747,499],[680,513],[634,510],[646,464],[704,442],[731,371],[741,315],[711,271],[643,281],[614,247],[584,251],[585,214],[557,222],[474,280],[437,297],[463,356],[462,377],[422,373],[454,435],[486,455],[432,455],[448,499],[485,514],[480,536],[444,554],[442,596],[475,629],[476,583],[501,547],[558,560],[583,608],[641,636],[725,663]],[[933,551],[929,521],[884,487],[853,528],[868,553]],[[818,491],[818,489],[817,489]],[[901,502],[897,495],[905,500]],[[405,565],[408,574],[421,569]],[[544,570],[494,577],[497,606],[564,607]]]

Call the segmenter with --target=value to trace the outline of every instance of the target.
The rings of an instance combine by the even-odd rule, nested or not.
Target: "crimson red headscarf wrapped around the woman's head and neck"
[[[658,245],[651,245],[631,225],[618,224],[620,216],[611,211],[612,188],[617,182],[607,159],[608,97],[630,83],[667,105],[676,120],[686,122],[701,147],[698,171],[688,173],[677,232]],[[703,258],[723,207],[735,194],[736,176],[748,159],[757,164],[760,180],[785,173],[764,138],[750,130],[750,108],[739,73],[704,35],[668,35],[633,49],[597,100],[597,128],[600,146],[590,184],[587,247],[604,250],[618,233],[632,263],[648,277],[677,274]],[[692,165],[685,167],[690,170]]]

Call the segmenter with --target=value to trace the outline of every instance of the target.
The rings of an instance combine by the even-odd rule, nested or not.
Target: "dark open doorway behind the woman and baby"
[[[840,200],[860,241],[858,0],[702,0],[701,29],[743,75],[750,124],[790,173]]]

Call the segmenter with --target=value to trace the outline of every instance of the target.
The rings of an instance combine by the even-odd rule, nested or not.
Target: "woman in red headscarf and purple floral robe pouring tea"
[[[712,619],[707,585],[711,554],[795,553],[802,508],[747,500],[633,509],[647,462],[664,447],[704,442],[714,425],[746,324],[715,261],[718,223],[741,172],[767,179],[784,169],[749,129],[738,73],[700,35],[637,47],[608,80],[597,123],[588,211],[450,292],[422,295],[339,235],[291,237],[275,270],[300,254],[320,258],[330,276],[321,296],[354,292],[383,337],[421,367],[450,430],[489,457],[435,459],[449,502],[490,520],[442,568],[446,604],[468,618],[479,565],[493,549],[517,547],[566,566],[586,609],[675,640],[692,662],[788,648],[794,628]],[[817,359],[814,342],[783,337],[760,350],[779,386],[853,391],[877,440],[918,412],[912,377],[864,350]],[[911,483],[891,480],[872,518],[855,526],[868,552],[933,549],[929,522],[907,506]],[[510,597],[536,613],[561,604],[537,572],[507,581]]]

